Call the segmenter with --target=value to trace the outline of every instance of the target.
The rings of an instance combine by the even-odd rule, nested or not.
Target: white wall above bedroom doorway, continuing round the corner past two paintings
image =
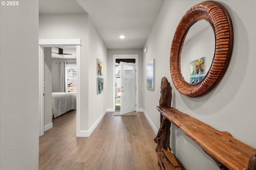
[[[81,130],[88,131],[107,109],[104,104],[107,86],[102,95],[96,93],[97,58],[107,63],[104,43],[88,14],[40,15],[39,38],[81,39]],[[107,64],[104,67],[107,73]],[[107,76],[104,76],[104,82],[107,82]],[[101,106],[98,106],[99,101],[102,101]]]

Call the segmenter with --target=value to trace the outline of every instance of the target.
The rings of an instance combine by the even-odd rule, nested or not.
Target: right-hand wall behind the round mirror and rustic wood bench
[[[172,107],[219,131],[228,131],[234,138],[256,147],[256,20],[252,20],[255,18],[256,1],[220,1],[232,19],[234,48],[224,78],[211,92],[202,97],[190,98],[180,94],[172,83],[169,56],[175,29],[186,11],[200,2],[202,1],[164,1],[145,45],[148,52],[143,56],[143,68],[145,70],[151,59],[156,59],[156,77],[155,90],[147,90],[144,86],[144,110],[158,129],[160,113],[155,106],[159,105],[161,78],[166,76],[172,86]],[[180,129],[172,125],[171,131],[172,151],[188,170],[219,169]],[[179,137],[179,148],[175,147],[176,136]]]

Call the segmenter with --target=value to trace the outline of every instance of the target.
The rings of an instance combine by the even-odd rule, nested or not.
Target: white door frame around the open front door
[[[113,109],[111,111],[116,111],[116,89],[115,89],[115,84],[116,84],[116,59],[135,59],[135,64],[136,64],[136,111],[138,111],[138,106],[139,106],[139,92],[137,90],[138,87],[138,74],[139,74],[139,55],[138,54],[114,54],[113,55]],[[122,102],[122,101],[121,101]]]

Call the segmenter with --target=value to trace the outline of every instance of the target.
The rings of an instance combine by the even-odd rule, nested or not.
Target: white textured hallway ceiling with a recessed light
[[[163,0],[39,0],[39,14],[89,14],[107,49],[143,48]],[[124,39],[119,36],[124,35]],[[69,53],[69,52],[66,52]]]

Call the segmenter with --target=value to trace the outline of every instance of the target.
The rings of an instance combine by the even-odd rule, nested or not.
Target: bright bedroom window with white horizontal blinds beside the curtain
[[[76,63],[67,63],[67,92],[76,92]]]

